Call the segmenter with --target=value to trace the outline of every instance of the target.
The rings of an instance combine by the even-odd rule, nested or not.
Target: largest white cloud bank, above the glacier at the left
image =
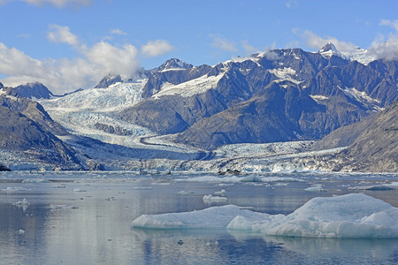
[[[156,57],[172,50],[172,45],[164,40],[148,42],[141,51],[129,43],[116,46],[102,41],[87,46],[81,44],[69,27],[56,24],[49,26],[47,38],[50,42],[70,45],[80,57],[38,60],[0,42],[0,72],[7,75],[2,79],[4,86],[39,81],[53,93],[62,95],[80,87],[93,87],[109,73],[133,75],[140,67],[140,52]]]

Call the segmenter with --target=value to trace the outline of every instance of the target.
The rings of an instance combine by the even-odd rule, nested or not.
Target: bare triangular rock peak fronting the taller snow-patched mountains
[[[326,114],[325,106],[293,84],[285,88],[272,83],[248,101],[201,119],[175,140],[212,149],[231,143],[314,139],[322,133],[316,121],[325,120]]]

